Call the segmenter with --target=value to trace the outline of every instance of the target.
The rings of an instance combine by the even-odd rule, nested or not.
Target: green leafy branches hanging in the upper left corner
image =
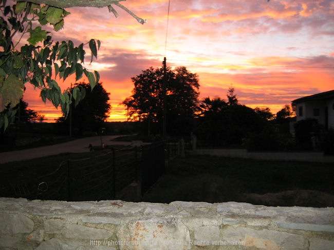
[[[77,105],[85,92],[79,87],[62,91],[56,79],[65,80],[75,74],[77,81],[85,74],[91,88],[99,81],[97,71],[83,67],[84,44],[75,47],[71,40],[54,43],[50,33],[42,28],[50,24],[55,31],[62,29],[68,14],[58,7],[26,2],[6,6],[6,0],[0,0],[0,128],[6,129],[14,119],[26,82],[41,90],[43,101],[50,100],[56,108],[61,106],[67,115],[72,98]],[[14,44],[16,34],[20,37]],[[25,34],[29,36],[28,44],[18,50],[16,47]],[[101,43],[91,39],[87,44],[91,63],[97,58]]]

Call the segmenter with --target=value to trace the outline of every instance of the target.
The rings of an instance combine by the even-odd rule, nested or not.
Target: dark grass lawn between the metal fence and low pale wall
[[[305,190],[334,195],[333,176],[334,167],[329,163],[194,155],[171,161],[165,174],[144,194],[143,200],[162,203],[182,200],[261,204],[261,201],[251,200],[249,194],[296,191],[297,193],[290,194],[290,197],[286,194],[275,197],[274,203],[266,205],[326,206],[319,203],[319,197],[312,199],[309,194],[305,199],[311,200],[299,201],[296,204],[296,197],[293,196]]]

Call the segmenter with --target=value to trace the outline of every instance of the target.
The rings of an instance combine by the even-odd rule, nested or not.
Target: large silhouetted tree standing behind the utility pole
[[[165,77],[165,79],[164,79]],[[161,132],[163,118],[164,80],[166,89],[166,114],[169,134],[180,134],[190,131],[192,119],[198,109],[199,83],[198,75],[185,67],[172,70],[153,67],[143,70],[132,78],[135,85],[132,96],[127,97],[125,105],[129,117],[158,124],[156,133]],[[150,127],[150,130],[154,130]]]

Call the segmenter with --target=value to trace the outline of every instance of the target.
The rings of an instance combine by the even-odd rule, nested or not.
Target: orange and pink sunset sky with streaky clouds
[[[164,57],[167,66],[198,74],[200,99],[227,99],[233,87],[239,103],[270,108],[274,114],[294,99],[334,89],[332,0],[120,3],[147,23],[139,24],[118,6],[118,18],[107,7],[74,7],[66,9],[71,14],[64,29],[52,31],[53,40],[72,40],[75,46],[91,38],[101,41],[91,65],[86,47],[85,67],[99,71],[110,93],[108,121],[126,120],[120,103],[132,95],[131,77],[162,67]],[[75,79],[67,78],[60,86],[66,89],[71,83]],[[45,115],[46,122],[61,116],[60,107],[44,103],[39,90],[26,88],[28,108]]]

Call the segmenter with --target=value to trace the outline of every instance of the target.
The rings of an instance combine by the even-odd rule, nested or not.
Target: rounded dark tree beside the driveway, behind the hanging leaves
[[[76,84],[75,88],[84,89],[85,98],[77,103],[77,107],[75,107],[75,100],[73,99],[70,114],[66,117],[63,115],[57,121],[63,123],[65,128],[68,128],[71,119],[73,135],[82,135],[88,131],[96,132],[107,119],[111,109],[108,103],[109,93],[106,92],[100,83],[92,90],[90,85],[85,82]]]

